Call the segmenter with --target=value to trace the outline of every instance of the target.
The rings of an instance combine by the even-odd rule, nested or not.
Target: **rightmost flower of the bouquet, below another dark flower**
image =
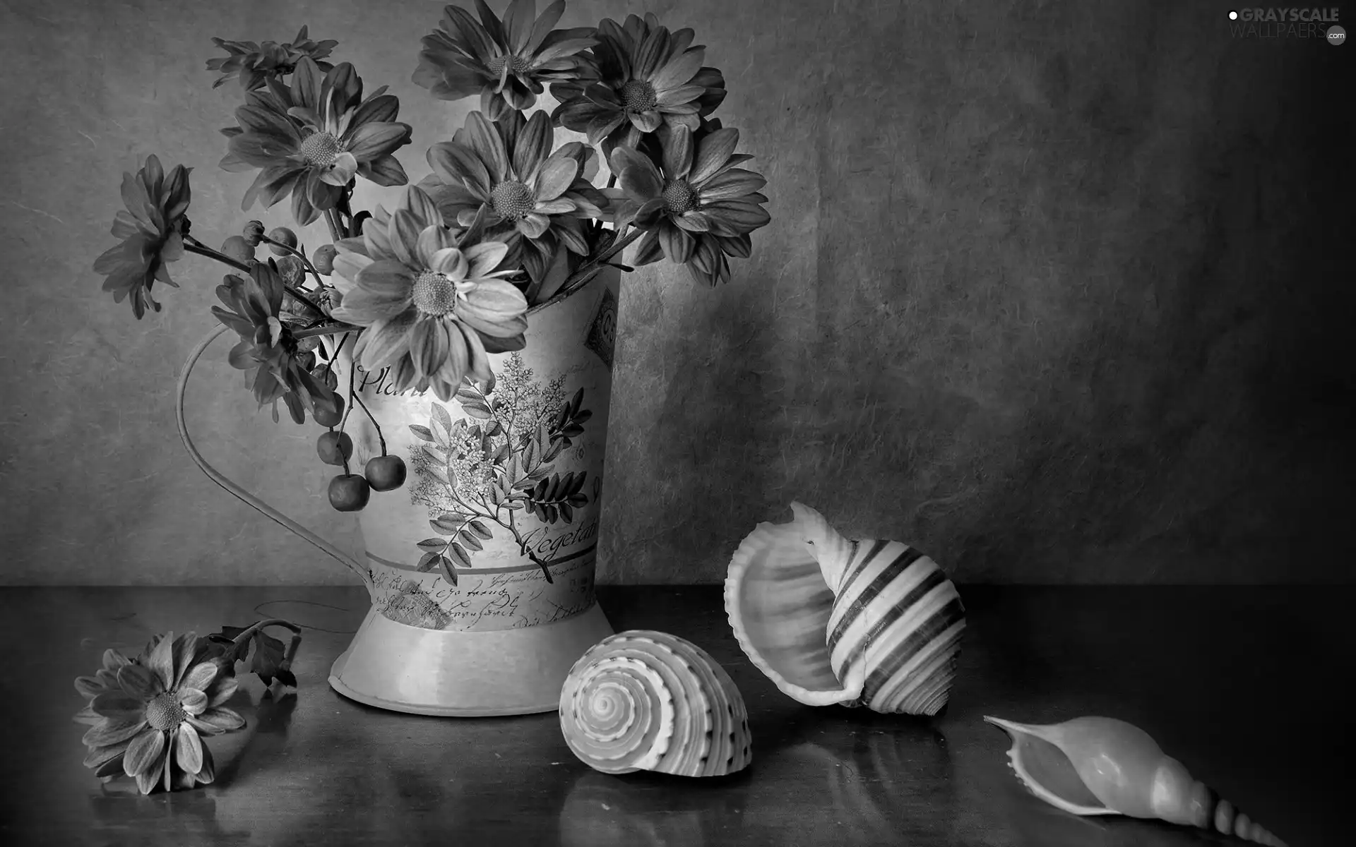
[[[612,153],[621,191],[618,221],[645,230],[633,262],[660,256],[687,266],[704,285],[730,279],[725,255],[747,257],[749,233],[770,221],[758,194],[767,180],[735,165],[751,159],[735,153],[739,130],[713,129],[694,137],[686,126],[659,134],[660,167],[628,146]]]

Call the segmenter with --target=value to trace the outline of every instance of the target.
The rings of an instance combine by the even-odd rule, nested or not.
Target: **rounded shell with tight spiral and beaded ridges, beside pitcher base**
[[[575,756],[607,774],[719,777],[753,759],[749,713],[725,669],[654,630],[589,648],[560,691],[560,729]]]

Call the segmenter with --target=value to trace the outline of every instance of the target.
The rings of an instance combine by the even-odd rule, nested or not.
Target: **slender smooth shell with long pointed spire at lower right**
[[[1125,814],[1214,829],[1285,847],[1163,753],[1149,733],[1105,717],[1016,724],[984,716],[1012,736],[1009,767],[1032,794],[1073,814]]]

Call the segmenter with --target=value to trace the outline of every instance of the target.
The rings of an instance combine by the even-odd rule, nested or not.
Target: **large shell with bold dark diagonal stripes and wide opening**
[[[788,697],[937,714],[960,656],[965,608],[937,564],[898,541],[850,541],[792,503],[735,550],[725,613],[739,646]]]

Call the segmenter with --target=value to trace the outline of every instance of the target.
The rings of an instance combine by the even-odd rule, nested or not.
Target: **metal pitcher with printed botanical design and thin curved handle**
[[[605,268],[529,312],[526,347],[490,356],[494,379],[447,402],[391,389],[385,371],[334,358],[353,439],[350,466],[404,459],[404,487],[358,512],[355,560],[244,491],[179,434],[218,485],[353,569],[372,608],[330,684],[370,706],[435,716],[553,711],[570,667],[612,634],[594,599],[599,499],[620,274]],[[351,382],[350,382],[351,381]],[[381,426],[381,438],[363,408]]]

